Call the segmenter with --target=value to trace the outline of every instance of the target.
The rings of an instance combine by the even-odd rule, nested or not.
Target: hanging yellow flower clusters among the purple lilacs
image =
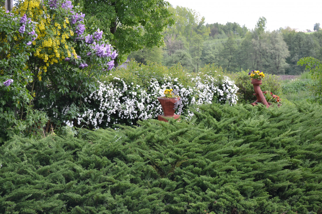
[[[35,74],[39,80],[50,64],[58,63],[66,57],[71,58],[72,54],[77,57],[73,48],[74,43],[67,40],[74,35],[67,15],[64,17],[55,12],[49,13],[42,0],[18,0],[13,10],[19,15],[25,13],[27,18],[37,23],[35,33],[38,37],[32,44],[35,49],[33,56],[42,60],[38,65],[39,72]]]

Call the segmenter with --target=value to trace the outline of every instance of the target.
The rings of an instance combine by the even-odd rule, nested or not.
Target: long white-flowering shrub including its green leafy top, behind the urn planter
[[[238,88],[221,72],[186,73],[182,67],[167,69],[161,65],[130,64],[95,82],[96,89],[83,94],[79,106],[50,103],[52,122],[59,125],[87,125],[90,128],[116,128],[116,124],[135,125],[138,120],[163,114],[157,100],[164,90],[179,89],[183,118],[191,118],[191,107],[207,103],[236,104]],[[178,114],[178,111],[175,112]]]

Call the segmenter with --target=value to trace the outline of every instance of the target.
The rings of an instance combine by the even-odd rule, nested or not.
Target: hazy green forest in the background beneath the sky
[[[304,71],[304,66],[297,65],[300,58],[321,58],[321,31],[304,33],[285,27],[270,32],[266,31],[265,17],[260,17],[251,30],[236,22],[205,24],[204,17],[192,9],[170,6],[169,10],[174,13],[175,24],[163,32],[165,46],[142,48],[129,58],[143,64],[181,63],[193,72],[205,64],[215,64],[231,72],[256,69],[289,75]]]

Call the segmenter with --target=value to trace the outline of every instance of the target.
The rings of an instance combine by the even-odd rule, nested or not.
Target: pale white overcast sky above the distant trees
[[[255,28],[258,19],[267,20],[266,30],[289,26],[313,30],[322,27],[321,0],[166,0],[175,6],[187,7],[205,17],[206,23],[237,22],[248,29]]]

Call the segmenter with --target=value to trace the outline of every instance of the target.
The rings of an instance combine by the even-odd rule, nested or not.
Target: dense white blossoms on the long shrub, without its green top
[[[180,90],[183,111],[188,117],[193,116],[188,107],[194,104],[212,102],[236,104],[238,88],[228,77],[223,77],[223,80],[209,75],[189,78],[194,83],[194,87],[184,86],[179,83],[178,78],[172,79],[169,76],[164,76],[163,84],[157,79],[151,79],[146,88],[133,82],[127,84],[118,77],[114,77],[110,83],[98,81],[99,88],[84,98],[89,108],[78,114],[78,124],[83,121],[99,128],[111,127],[113,124],[133,124],[138,119],[156,118],[162,114],[162,107],[156,98],[161,96],[160,91],[163,92],[172,86]],[[68,109],[69,107],[65,107],[62,114],[66,114]],[[72,125],[67,122],[67,125]]]

